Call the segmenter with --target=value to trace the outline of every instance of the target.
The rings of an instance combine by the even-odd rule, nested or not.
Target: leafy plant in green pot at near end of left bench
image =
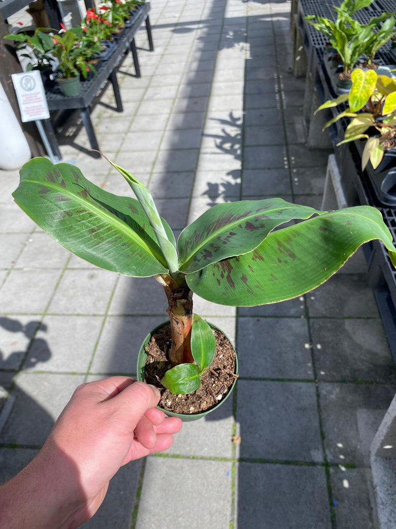
[[[81,52],[78,36],[81,28],[72,28],[62,34],[54,35],[53,55],[58,59],[59,76],[56,79],[65,96],[73,97],[79,95],[80,74],[85,79],[87,73],[93,69],[89,66]]]

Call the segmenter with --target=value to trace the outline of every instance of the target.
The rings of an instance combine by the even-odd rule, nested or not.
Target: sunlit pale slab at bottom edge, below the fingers
[[[180,490],[177,501],[163,494]],[[196,486],[192,486],[195,483]],[[231,463],[149,457],[146,461],[136,529],[156,529],[172,520],[177,529],[229,529]]]

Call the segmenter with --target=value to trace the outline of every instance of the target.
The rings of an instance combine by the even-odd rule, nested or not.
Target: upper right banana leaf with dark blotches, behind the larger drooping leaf
[[[196,272],[256,248],[276,226],[293,218],[309,218],[315,209],[281,198],[218,204],[187,226],[177,241],[179,269]]]

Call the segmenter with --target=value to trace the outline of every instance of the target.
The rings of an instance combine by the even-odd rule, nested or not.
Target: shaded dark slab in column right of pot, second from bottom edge
[[[323,461],[312,382],[238,380],[236,419],[241,458]]]

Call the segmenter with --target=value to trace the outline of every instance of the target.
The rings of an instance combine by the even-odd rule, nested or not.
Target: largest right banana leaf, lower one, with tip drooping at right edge
[[[381,214],[357,206],[310,218],[272,232],[253,251],[188,273],[197,295],[221,305],[253,306],[312,290],[366,241],[380,239],[396,265],[396,250]]]

